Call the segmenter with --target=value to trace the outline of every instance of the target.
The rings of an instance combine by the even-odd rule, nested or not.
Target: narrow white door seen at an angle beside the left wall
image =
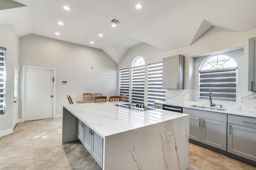
[[[14,86],[13,86],[13,128],[18,123],[18,97],[19,97],[19,64],[14,61]]]

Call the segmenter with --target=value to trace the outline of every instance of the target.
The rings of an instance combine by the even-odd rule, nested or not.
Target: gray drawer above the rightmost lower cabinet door
[[[228,115],[228,123],[256,128],[256,118]]]

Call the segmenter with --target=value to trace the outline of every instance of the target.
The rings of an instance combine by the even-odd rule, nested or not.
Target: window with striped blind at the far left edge
[[[0,114],[5,114],[6,49],[0,47]]]

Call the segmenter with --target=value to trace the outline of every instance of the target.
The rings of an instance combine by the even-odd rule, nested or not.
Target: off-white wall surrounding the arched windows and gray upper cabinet
[[[256,29],[252,29],[246,32],[236,32],[230,31],[219,27],[212,27],[208,32],[206,32],[202,37],[200,37],[197,41],[195,41],[192,45],[187,47],[182,47],[179,49],[174,49],[171,51],[162,51],[156,47],[143,43],[136,47],[131,48],[124,59],[118,65],[118,69],[131,67],[132,61],[137,56],[144,57],[145,64],[156,63],[162,61],[162,58],[169,57],[172,55],[182,54],[185,56],[185,82],[184,89],[185,90],[166,90],[166,100],[170,98],[172,94],[176,96],[180,94],[180,96],[184,96],[185,94],[190,94],[188,92],[191,89],[191,80],[189,79],[189,70],[190,69],[190,57],[205,53],[211,53],[214,51],[221,51],[225,49],[231,49],[235,47],[244,46],[244,55],[239,58],[238,63],[238,96],[243,98],[243,96],[249,96],[248,94],[248,39],[256,37]],[[193,64],[192,64],[193,65]],[[191,73],[190,73],[191,75]],[[193,89],[196,89],[192,86]],[[242,92],[242,94],[241,94]],[[255,94],[253,94],[255,95]],[[186,101],[186,100],[184,100]],[[242,100],[241,100],[242,102]],[[256,102],[256,99],[250,99],[250,104]],[[240,100],[239,102],[240,103]],[[247,107],[247,106],[246,106]],[[248,108],[251,108],[250,106]]]

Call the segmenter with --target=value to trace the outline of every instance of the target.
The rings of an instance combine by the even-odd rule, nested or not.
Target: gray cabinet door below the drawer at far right
[[[228,123],[228,152],[256,161],[256,128]]]

